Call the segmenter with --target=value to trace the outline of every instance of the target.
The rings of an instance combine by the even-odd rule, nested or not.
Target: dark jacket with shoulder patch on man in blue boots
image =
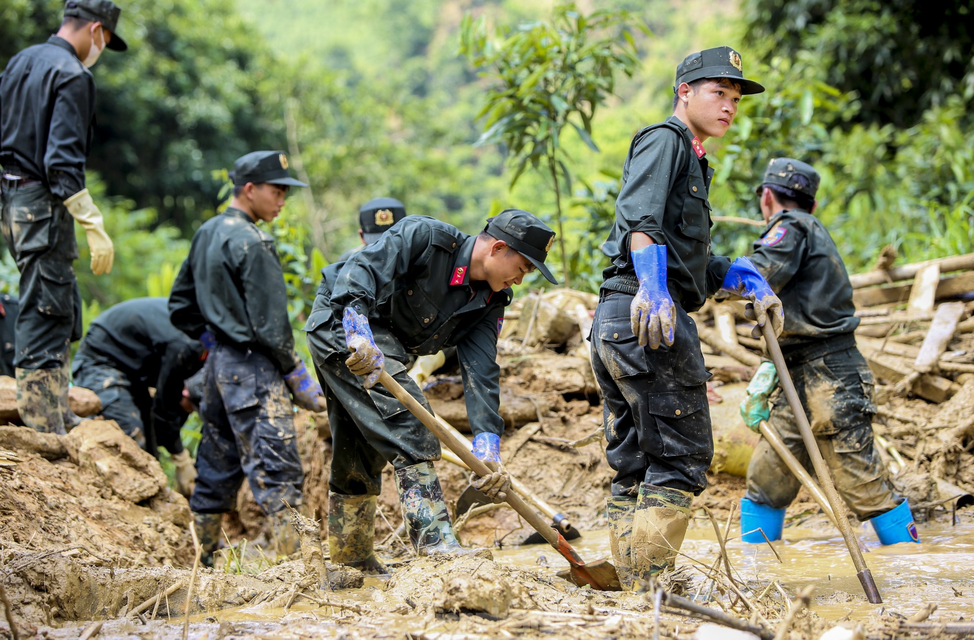
[[[839,248],[807,211],[785,209],[771,216],[751,261],[781,298],[782,347],[851,333],[859,325]]]

